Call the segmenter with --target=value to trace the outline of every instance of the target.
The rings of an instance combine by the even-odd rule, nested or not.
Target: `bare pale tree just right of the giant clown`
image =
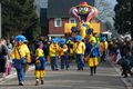
[[[95,7],[99,9],[98,19],[101,23],[106,27],[104,30],[113,30],[113,17],[114,17],[114,8],[115,3],[111,3],[110,0],[95,0]]]

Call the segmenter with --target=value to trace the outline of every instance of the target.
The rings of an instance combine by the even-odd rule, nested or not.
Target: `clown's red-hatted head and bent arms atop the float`
[[[86,2],[81,2],[79,6],[70,9],[70,14],[76,18],[79,22],[89,22],[98,13],[98,9],[89,6]]]

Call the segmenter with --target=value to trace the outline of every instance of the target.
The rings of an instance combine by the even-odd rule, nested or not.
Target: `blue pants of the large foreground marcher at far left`
[[[17,70],[17,76],[18,76],[19,82],[23,82],[24,81],[24,76],[25,76],[25,65],[23,65],[21,67],[21,69],[16,68],[16,70]]]

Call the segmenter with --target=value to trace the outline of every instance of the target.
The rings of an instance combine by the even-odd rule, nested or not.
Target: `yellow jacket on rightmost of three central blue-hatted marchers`
[[[84,55],[84,51],[85,51],[84,42],[82,42],[82,41],[75,42],[73,46],[73,51],[75,51],[75,53]]]

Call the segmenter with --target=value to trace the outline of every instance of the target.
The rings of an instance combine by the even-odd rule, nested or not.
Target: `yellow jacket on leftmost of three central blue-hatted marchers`
[[[51,43],[49,47],[49,55],[50,57],[59,56],[60,47],[58,43]]]

